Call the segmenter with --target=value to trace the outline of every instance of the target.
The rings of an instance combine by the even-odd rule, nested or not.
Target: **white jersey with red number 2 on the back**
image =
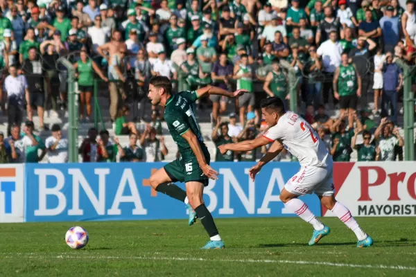
[[[332,157],[324,142],[311,125],[293,111],[286,111],[263,136],[269,141],[283,143],[284,148],[297,158],[302,167],[332,167]]]

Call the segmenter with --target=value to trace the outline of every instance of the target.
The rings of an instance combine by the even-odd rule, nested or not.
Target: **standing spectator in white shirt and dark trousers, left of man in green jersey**
[[[332,80],[333,72],[341,64],[341,54],[343,53],[343,46],[338,42],[338,37],[336,30],[332,30],[329,33],[329,39],[319,46],[316,53],[319,57],[322,57],[322,66],[325,75],[325,80],[323,85],[323,96],[324,104],[329,103],[329,93],[333,92]],[[336,99],[334,98],[334,104]]]

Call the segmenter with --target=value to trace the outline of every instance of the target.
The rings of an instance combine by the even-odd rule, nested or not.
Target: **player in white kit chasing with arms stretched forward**
[[[228,150],[246,152],[273,143],[267,154],[250,169],[250,177],[254,181],[261,168],[286,148],[298,159],[301,168],[281,190],[280,199],[289,210],[309,222],[315,229],[309,245],[319,242],[330,233],[329,227],[322,224],[308,206],[298,199],[302,195],[315,193],[322,205],[354,231],[358,239],[357,247],[370,247],[373,244],[372,238],[360,228],[351,212],[334,197],[332,157],[318,134],[300,116],[292,111],[285,111],[280,98],[264,99],[261,102],[261,110],[270,127],[266,134],[251,141],[220,145],[218,147],[220,152],[222,154]]]

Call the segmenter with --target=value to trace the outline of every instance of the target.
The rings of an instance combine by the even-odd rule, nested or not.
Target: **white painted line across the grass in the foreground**
[[[23,257],[22,257],[23,256]],[[107,260],[176,260],[176,261],[193,261],[193,262],[241,262],[241,263],[276,263],[276,264],[293,264],[293,265],[325,265],[328,267],[353,267],[363,269],[394,269],[394,270],[410,270],[416,271],[416,267],[406,267],[402,265],[356,265],[340,262],[313,262],[307,260],[254,260],[254,259],[206,259],[192,257],[161,257],[161,256],[33,256],[19,255],[21,258],[90,258],[90,259],[107,259]],[[3,256],[3,258],[17,258],[17,256]]]

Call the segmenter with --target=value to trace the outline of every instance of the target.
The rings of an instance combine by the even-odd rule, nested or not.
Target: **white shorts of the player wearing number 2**
[[[331,196],[335,193],[332,179],[332,165],[327,168],[305,166],[300,168],[284,188],[294,195],[315,193],[318,196]]]

